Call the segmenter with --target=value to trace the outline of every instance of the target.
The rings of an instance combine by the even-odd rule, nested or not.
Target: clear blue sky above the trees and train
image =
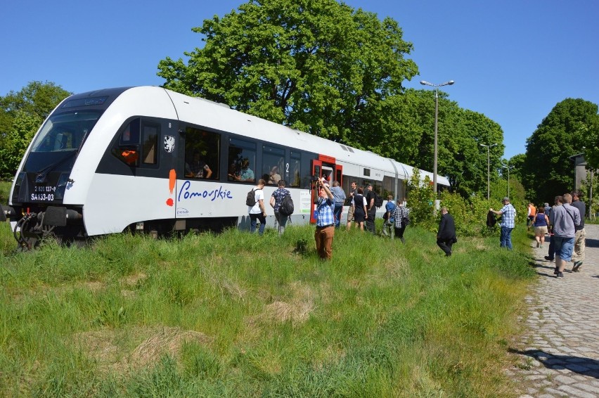
[[[599,104],[599,1],[346,1],[389,16],[411,41],[420,75],[460,107],[501,125],[505,158],[565,98]],[[241,0],[8,1],[0,15],[0,96],[28,82],[75,93],[160,85],[160,60],[202,46],[192,27]],[[484,148],[482,148],[484,149]]]

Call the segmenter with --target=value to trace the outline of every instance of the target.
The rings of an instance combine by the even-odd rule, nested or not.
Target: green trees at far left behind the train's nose
[[[15,176],[39,125],[70,94],[54,83],[30,82],[0,97],[0,178]]]

